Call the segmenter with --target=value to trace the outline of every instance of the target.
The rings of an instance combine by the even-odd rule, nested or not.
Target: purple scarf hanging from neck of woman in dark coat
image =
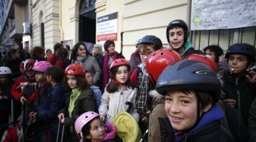
[[[117,59],[117,52],[114,52],[113,61],[116,59]],[[108,61],[109,61],[109,55],[105,54],[105,56],[103,58],[103,86],[102,86],[103,89],[105,89],[106,85],[108,84],[108,80],[109,80]]]

